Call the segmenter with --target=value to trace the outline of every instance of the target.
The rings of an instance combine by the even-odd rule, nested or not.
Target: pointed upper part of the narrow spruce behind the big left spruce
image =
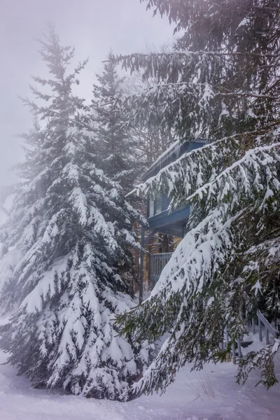
[[[137,158],[130,128],[122,114],[123,82],[109,53],[99,84],[93,85],[92,109],[97,123],[97,153],[99,166],[113,181],[118,181],[124,193],[129,193],[137,178]]]

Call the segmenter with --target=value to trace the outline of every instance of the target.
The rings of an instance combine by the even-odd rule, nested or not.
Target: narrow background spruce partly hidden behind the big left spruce
[[[127,124],[122,112],[127,80],[118,76],[116,64],[113,63],[112,58],[113,54],[109,52],[104,62],[103,72],[96,75],[98,84],[93,85],[89,123],[94,126],[96,133],[94,150],[98,167],[104,171],[106,176],[120,184],[122,188],[120,194],[125,197],[134,188],[139,175],[144,172],[144,165],[139,159],[132,127]],[[139,200],[139,197],[134,195],[130,195],[127,200],[130,206],[138,209],[141,213],[143,200]],[[134,223],[133,228],[138,232],[141,230],[139,223]],[[130,255],[131,251],[130,245],[127,244],[125,252]],[[139,251],[133,253],[134,260],[137,260]],[[134,290],[134,286],[137,286],[137,267],[131,265],[130,268],[125,267],[124,270],[123,267],[118,267],[125,281],[130,283],[131,289]]]

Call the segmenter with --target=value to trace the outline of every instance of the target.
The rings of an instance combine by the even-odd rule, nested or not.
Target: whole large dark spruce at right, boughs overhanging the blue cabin
[[[139,187],[193,212],[151,297],[118,318],[123,334],[140,341],[170,334],[138,392],[164,390],[186,362],[223,360],[225,325],[234,342],[246,331],[244,313],[280,317],[279,1],[149,0],[153,6],[186,33],[170,53],[116,57],[157,80],[127,99],[127,114],[150,124],[160,110],[163,127],[209,145]],[[276,340],[250,353],[238,381],[258,367],[261,382],[275,384],[278,350]]]

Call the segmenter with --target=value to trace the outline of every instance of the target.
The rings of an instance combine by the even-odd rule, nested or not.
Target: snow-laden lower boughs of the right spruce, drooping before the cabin
[[[224,139],[186,153],[139,186],[145,192],[168,192],[174,205],[192,203],[195,210],[188,223],[190,230],[163,269],[151,296],[117,318],[122,332],[132,333],[136,339],[155,341],[170,332],[153,364],[135,385],[137,393],[164,389],[186,362],[200,368],[211,358],[220,357],[217,345],[226,323],[232,339],[245,332],[234,302],[248,285],[252,286],[246,269],[242,277],[246,258],[256,251],[250,244],[258,240],[265,253],[265,244],[260,244],[267,209],[269,217],[279,211],[280,143],[273,143],[279,140],[276,136],[272,144],[242,151],[239,141],[227,140],[228,148]],[[253,235],[248,220],[255,221]],[[256,229],[260,231],[258,239]],[[278,253],[276,242],[274,245]],[[267,267],[275,260],[272,254],[265,253]],[[229,269],[231,264],[234,271]],[[242,281],[237,282],[238,273]],[[142,323],[149,328],[143,330]]]

